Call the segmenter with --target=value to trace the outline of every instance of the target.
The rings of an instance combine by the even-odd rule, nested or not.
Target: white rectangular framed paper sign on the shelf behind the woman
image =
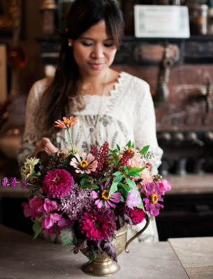
[[[189,38],[186,6],[135,5],[135,37]]]

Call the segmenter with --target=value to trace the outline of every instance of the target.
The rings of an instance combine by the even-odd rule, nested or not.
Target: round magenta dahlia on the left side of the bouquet
[[[44,176],[42,188],[48,197],[65,197],[73,188],[74,179],[65,169],[51,169]]]

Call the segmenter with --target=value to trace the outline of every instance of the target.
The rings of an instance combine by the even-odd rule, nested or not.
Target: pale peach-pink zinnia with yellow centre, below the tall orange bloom
[[[91,153],[87,155],[86,152],[83,152],[82,160],[78,153],[76,153],[75,157],[71,160],[71,166],[75,167],[75,172],[77,173],[84,174],[86,172],[86,174],[90,174],[96,170],[98,161]]]

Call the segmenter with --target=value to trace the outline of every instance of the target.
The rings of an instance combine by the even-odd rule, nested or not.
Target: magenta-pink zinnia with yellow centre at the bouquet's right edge
[[[153,216],[158,216],[160,209],[163,209],[163,204],[159,204],[159,201],[163,202],[161,189],[156,183],[148,183],[145,185],[145,188],[145,190],[141,190],[147,196],[143,199],[145,201],[145,208],[149,214],[152,213]]]

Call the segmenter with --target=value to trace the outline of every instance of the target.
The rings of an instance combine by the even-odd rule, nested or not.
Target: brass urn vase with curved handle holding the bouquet
[[[121,229],[115,231],[115,239],[112,240],[112,245],[115,247],[115,250],[117,252],[117,256],[120,255],[123,250],[125,249],[126,252],[129,252],[128,245],[133,241],[136,237],[138,237],[142,232],[147,229],[150,217],[149,215],[145,215],[145,219],[147,223],[145,224],[145,227],[143,227],[140,232],[135,234],[131,239],[126,242],[126,235],[127,235],[127,225],[125,223],[124,227]],[[85,255],[84,249],[81,250],[81,252]],[[114,262],[110,257],[105,254],[105,252],[101,252],[101,250],[98,250],[98,256],[96,259],[92,262],[87,262],[82,266],[82,271],[85,273],[91,275],[91,276],[111,276],[115,273],[117,273],[120,269],[119,264],[117,262]]]

